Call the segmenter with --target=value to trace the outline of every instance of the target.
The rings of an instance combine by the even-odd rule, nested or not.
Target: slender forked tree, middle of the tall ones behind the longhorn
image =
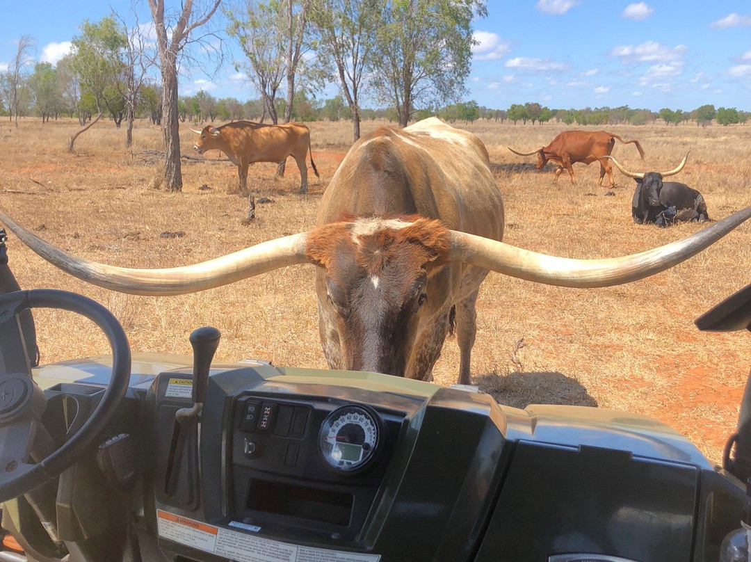
[[[360,89],[375,45],[382,0],[312,0],[310,22],[316,51],[336,70],[339,89],[352,115],[352,136],[360,138]]]

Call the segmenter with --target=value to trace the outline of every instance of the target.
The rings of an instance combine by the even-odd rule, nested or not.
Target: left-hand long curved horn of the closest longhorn
[[[200,264],[164,269],[134,269],[79,258],[45,242],[0,211],[0,221],[42,258],[73,276],[104,289],[132,295],[182,295],[213,289],[287,265],[309,263],[308,233],[269,240]]]

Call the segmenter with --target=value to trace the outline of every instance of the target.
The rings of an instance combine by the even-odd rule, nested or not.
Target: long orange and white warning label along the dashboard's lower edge
[[[214,527],[170,512],[156,511],[159,536],[237,562],[378,562],[379,554],[357,554],[292,545]]]

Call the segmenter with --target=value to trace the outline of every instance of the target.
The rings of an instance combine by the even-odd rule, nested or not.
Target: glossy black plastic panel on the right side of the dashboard
[[[608,449],[517,443],[476,562],[572,552],[686,562],[699,473]]]

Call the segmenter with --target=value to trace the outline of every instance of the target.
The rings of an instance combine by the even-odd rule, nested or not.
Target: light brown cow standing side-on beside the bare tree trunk
[[[297,168],[300,168],[300,193],[308,191],[305,156],[310,150],[310,130],[306,125],[262,125],[252,121],[234,121],[219,127],[207,125],[202,131],[192,128],[191,131],[198,134],[193,148],[199,154],[216,148],[237,165],[240,192],[244,193],[248,189],[249,165],[253,162],[282,162],[288,156],[292,156],[297,162]],[[315,177],[318,177],[312,151],[310,165]]]

